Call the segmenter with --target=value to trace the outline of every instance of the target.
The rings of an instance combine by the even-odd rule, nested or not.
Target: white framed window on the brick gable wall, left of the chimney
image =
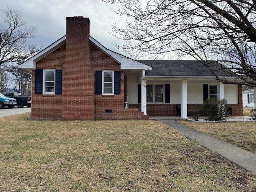
[[[54,69],[44,69],[43,93],[55,94],[55,70]]]

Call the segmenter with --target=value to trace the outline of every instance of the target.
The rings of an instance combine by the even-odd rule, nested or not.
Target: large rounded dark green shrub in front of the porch
[[[207,120],[224,120],[228,115],[227,101],[220,98],[209,98],[204,102],[202,112]]]

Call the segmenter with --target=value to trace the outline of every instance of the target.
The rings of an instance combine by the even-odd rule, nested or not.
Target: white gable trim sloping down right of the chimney
[[[112,50],[109,50],[108,48],[104,47],[102,44],[100,44],[97,40],[89,37],[90,41],[97,46],[100,50],[102,50],[104,53],[106,53],[108,56],[113,58],[116,62],[121,64],[121,69],[141,69],[141,70],[152,70],[151,66],[148,66],[146,64],[143,64],[141,62],[138,62],[136,60],[133,60],[131,58],[128,58],[124,55],[121,55],[117,52],[114,52]]]

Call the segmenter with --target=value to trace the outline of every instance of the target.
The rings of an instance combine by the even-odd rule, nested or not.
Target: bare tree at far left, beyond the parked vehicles
[[[7,7],[2,10],[0,24],[0,66],[18,60],[26,60],[40,50],[36,44],[28,43],[33,38],[36,27],[27,26],[18,10]]]

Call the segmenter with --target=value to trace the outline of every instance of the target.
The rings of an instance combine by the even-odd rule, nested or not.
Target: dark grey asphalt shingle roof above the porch
[[[197,60],[138,60],[152,67],[147,76],[213,76],[212,72]],[[209,66],[215,70],[222,64],[214,62]],[[227,72],[217,71],[219,76],[231,76]]]

